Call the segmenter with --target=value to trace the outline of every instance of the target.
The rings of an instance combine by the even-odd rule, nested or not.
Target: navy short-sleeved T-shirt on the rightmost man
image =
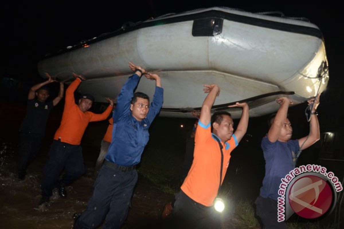
[[[299,140],[270,142],[268,137],[261,141],[265,158],[265,176],[260,188],[260,196],[277,201],[281,179],[295,168],[294,155],[299,150]]]

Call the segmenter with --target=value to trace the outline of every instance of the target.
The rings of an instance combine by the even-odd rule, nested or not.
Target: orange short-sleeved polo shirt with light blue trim
[[[236,136],[232,137],[223,146],[222,181],[226,175],[230,152],[238,145]],[[212,206],[217,196],[220,182],[221,151],[218,142],[212,136],[210,123],[206,126],[198,122],[195,135],[194,159],[184,183],[183,192],[195,202],[205,206]]]

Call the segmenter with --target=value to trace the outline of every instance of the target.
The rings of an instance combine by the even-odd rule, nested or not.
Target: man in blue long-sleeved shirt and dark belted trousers
[[[149,139],[148,128],[163,103],[163,89],[157,74],[147,73],[129,62],[135,72],[123,85],[114,112],[112,140],[103,167],[94,185],[87,209],[74,228],[97,228],[105,218],[104,228],[120,228],[127,217],[133,189],[137,182],[136,165]],[[155,80],[155,93],[149,105],[148,95],[134,90],[142,75]]]

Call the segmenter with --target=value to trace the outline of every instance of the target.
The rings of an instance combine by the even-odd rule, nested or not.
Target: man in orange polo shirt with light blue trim
[[[243,108],[238,128],[233,133],[233,119],[228,112],[211,115],[219,87],[204,85],[203,90],[208,95],[196,128],[194,159],[173,209],[175,221],[183,228],[219,228],[219,217],[213,214],[213,202],[226,174],[230,153],[245,135],[248,125],[247,103],[230,106]]]

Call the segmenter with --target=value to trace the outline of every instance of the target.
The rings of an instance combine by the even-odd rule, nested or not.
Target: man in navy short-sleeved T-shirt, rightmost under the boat
[[[320,139],[319,122],[316,116],[319,96],[308,101],[312,107],[309,136],[297,140],[291,140],[292,127],[287,117],[288,107],[292,102],[286,97],[277,99],[281,106],[276,116],[270,117],[268,134],[261,141],[265,159],[265,176],[255,203],[257,216],[263,228],[287,228],[285,222],[277,222],[278,189],[281,179],[295,168],[299,149],[306,149]]]

